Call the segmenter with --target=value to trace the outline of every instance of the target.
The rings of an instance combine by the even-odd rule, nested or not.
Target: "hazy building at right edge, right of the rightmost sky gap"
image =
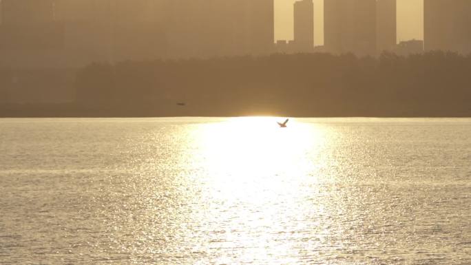
[[[471,52],[471,1],[424,0],[425,50]]]

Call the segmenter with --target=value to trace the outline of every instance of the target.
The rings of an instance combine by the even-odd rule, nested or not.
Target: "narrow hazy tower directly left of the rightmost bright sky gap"
[[[396,0],[377,0],[376,17],[377,52],[394,50],[397,44]]]

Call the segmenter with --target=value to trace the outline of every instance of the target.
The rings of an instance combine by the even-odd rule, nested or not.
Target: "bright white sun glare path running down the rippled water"
[[[209,214],[204,222],[214,231],[210,246],[243,248],[241,260],[247,262],[295,262],[285,254],[296,246],[282,240],[291,224],[280,222],[280,217],[293,219],[306,214],[305,209],[322,211],[320,204],[306,200],[302,190],[306,182],[315,183],[309,174],[318,166],[313,160],[322,162],[318,158],[326,144],[324,131],[295,119],[280,128],[278,121],[284,118],[232,118],[202,125],[196,137],[200,149],[194,156],[200,157],[207,178],[202,200],[209,202]]]

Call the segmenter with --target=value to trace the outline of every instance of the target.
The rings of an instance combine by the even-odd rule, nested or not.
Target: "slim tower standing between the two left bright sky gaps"
[[[299,52],[310,52],[314,47],[314,3],[300,0],[294,3],[294,43]]]

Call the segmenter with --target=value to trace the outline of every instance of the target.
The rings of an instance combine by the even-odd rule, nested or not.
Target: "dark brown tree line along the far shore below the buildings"
[[[470,73],[471,56],[451,52],[93,64],[56,115],[471,116]]]

